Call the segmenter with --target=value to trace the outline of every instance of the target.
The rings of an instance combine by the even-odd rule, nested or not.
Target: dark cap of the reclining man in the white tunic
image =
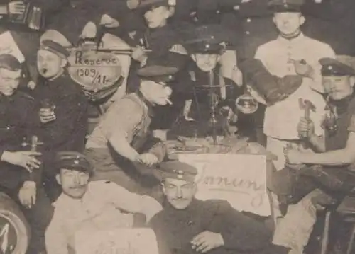
[[[60,151],[55,155],[55,168],[57,172],[60,169],[69,169],[81,171],[92,175],[93,168],[89,160],[84,154],[77,151]]]

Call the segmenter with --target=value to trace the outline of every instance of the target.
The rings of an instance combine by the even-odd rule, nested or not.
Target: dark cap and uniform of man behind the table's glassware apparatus
[[[221,25],[201,25],[185,31],[185,42],[183,46],[189,54],[219,54],[224,51],[224,43],[229,42],[228,32]],[[189,76],[187,81],[181,82],[180,100],[192,100],[191,110],[188,117],[192,117],[196,121],[190,122],[182,120],[178,125],[174,125],[171,130],[172,135],[194,136],[197,134],[200,137],[208,136],[210,132],[209,119],[211,116],[211,96],[210,91],[217,96],[217,115],[222,120],[222,115],[219,110],[224,106],[228,106],[235,111],[236,98],[243,94],[244,88],[241,88],[231,79],[225,78],[222,75],[222,69],[217,64],[217,67],[212,70],[212,73],[202,71],[194,62],[187,67]],[[213,88],[208,88],[209,79],[212,77]],[[178,94],[176,94],[178,96]],[[246,120],[243,116],[241,121]],[[222,123],[222,121],[219,121]],[[218,127],[222,134],[222,125]],[[197,132],[197,133],[196,133]]]

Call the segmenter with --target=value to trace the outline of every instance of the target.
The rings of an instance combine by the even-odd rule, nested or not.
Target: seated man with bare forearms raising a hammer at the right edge
[[[354,178],[351,177],[349,171],[353,168],[351,164],[355,161],[355,99],[353,91],[355,70],[334,59],[320,59],[320,63],[322,64],[324,91],[329,96],[329,111],[323,123],[325,135],[324,137],[317,136],[315,123],[302,118],[298,125],[298,131],[307,134],[308,144],[314,147],[317,153],[310,154],[295,149],[285,151],[286,160],[290,164],[322,166],[320,171],[315,169],[307,171],[307,174],[310,174],[317,183],[313,184],[313,189],[319,189],[310,192],[292,208],[288,208],[285,219],[280,221],[276,227],[273,240],[275,244],[292,248],[292,253],[297,254],[303,253],[303,248],[308,242],[316,221],[317,209],[337,203],[346,195],[345,189],[340,190],[341,195],[339,195],[339,190],[332,190],[334,185],[329,185],[334,181],[332,175],[335,180],[339,177],[341,183],[344,182],[344,186],[349,185],[348,191],[354,187],[354,183],[351,183]],[[302,169],[300,172],[302,173]],[[346,183],[349,181],[350,183]]]

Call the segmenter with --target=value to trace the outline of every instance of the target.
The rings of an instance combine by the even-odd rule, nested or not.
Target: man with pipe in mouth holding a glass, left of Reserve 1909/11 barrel
[[[40,111],[43,137],[45,181],[51,198],[58,196],[55,175],[50,172],[56,151],[84,150],[87,134],[87,98],[82,88],[67,74],[66,48],[53,40],[43,40],[37,53],[40,82],[33,90]]]

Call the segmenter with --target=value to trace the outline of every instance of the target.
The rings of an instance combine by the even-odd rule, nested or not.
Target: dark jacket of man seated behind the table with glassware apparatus
[[[166,122],[167,124],[165,124],[165,126],[167,126],[167,129],[172,128],[169,132],[172,137],[175,137],[175,135],[194,137],[196,134],[198,137],[206,137],[211,131],[209,126],[209,120],[211,117],[211,97],[209,95],[210,89],[206,87],[209,85],[209,74],[198,69],[195,63],[192,63],[189,69],[190,75],[183,77],[184,81],[180,81],[179,85],[175,86],[176,88],[171,98],[173,105],[170,106],[170,109],[166,110],[169,106],[165,106],[165,111],[163,108],[160,110],[159,107],[156,110],[156,115],[160,116],[160,122]],[[221,88],[212,88],[212,91],[217,95],[218,100],[216,113],[218,121],[217,129],[219,129],[217,132],[219,133],[222,132],[222,115],[219,114],[219,110],[224,106],[229,106],[229,108],[236,112],[236,98],[244,93],[244,88],[237,86],[231,79],[226,79],[220,76],[218,67],[214,71],[213,85],[225,85],[226,92],[226,98],[223,99]],[[196,121],[187,122],[182,120],[182,108],[184,107],[185,100],[192,100],[191,110],[188,116]],[[178,118],[179,114],[180,118]],[[239,127],[248,126],[250,128],[251,117],[239,114],[238,112],[236,112],[236,114],[239,115],[237,125]]]

